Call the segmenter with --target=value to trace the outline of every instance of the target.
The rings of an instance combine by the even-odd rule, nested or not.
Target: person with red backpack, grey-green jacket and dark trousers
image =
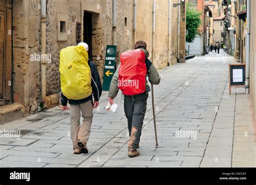
[[[139,40],[134,45],[134,50],[126,51],[120,56],[118,66],[112,78],[109,90],[109,102],[113,104],[120,89],[124,94],[124,111],[128,121],[129,145],[128,156],[139,155],[139,141],[142,134],[143,120],[146,113],[147,98],[150,87],[147,85],[146,76],[151,84],[160,83],[159,74],[147,57],[146,43]]]

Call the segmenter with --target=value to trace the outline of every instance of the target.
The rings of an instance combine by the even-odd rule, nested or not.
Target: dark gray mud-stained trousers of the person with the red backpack
[[[130,140],[128,150],[136,149],[142,135],[143,120],[149,94],[124,95],[124,112],[128,121]]]

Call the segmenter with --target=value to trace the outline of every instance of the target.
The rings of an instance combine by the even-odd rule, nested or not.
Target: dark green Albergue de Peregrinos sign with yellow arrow
[[[114,75],[114,67],[116,66],[116,51],[116,45],[107,45],[103,77],[103,91],[109,91],[110,83]]]

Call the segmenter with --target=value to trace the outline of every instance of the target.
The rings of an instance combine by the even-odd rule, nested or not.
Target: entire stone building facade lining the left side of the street
[[[120,53],[134,44],[134,5],[137,8],[136,39],[147,42],[152,59],[152,6],[153,0],[117,0],[116,28],[113,28],[113,0],[46,0],[46,17],[42,18],[43,0],[0,0],[5,13],[12,11],[12,67],[10,99],[0,104],[1,122],[21,117],[45,106],[59,102],[59,52],[61,49],[84,41],[89,44],[89,56],[96,63],[103,79],[106,45],[113,43],[116,32],[117,63]],[[1,4],[2,3],[2,4]],[[169,4],[170,3],[170,4]],[[178,55],[178,0],[156,0],[156,40],[154,65],[157,68],[177,63],[178,56],[185,61],[185,28],[180,26],[180,55]],[[5,4],[9,7],[5,8]],[[171,7],[171,35],[169,35],[169,5]],[[6,15],[6,14],[5,14]],[[181,22],[185,22],[185,5]],[[42,32],[45,23],[45,36]],[[6,29],[7,30],[7,29]],[[170,40],[168,42],[168,37]],[[42,38],[45,38],[45,47]],[[184,40],[184,39],[183,39]],[[44,51],[45,53],[42,53]],[[9,49],[11,50],[11,48]],[[184,53],[184,54],[183,54]],[[43,59],[42,59],[43,58]],[[169,59],[169,61],[168,61]],[[44,63],[42,62],[44,61]],[[45,64],[46,97],[42,92],[42,69]],[[2,77],[1,77],[2,78]],[[7,77],[3,77],[3,79]],[[103,82],[103,81],[102,81]],[[1,98],[0,98],[1,99]],[[16,119],[16,118],[14,118]]]

